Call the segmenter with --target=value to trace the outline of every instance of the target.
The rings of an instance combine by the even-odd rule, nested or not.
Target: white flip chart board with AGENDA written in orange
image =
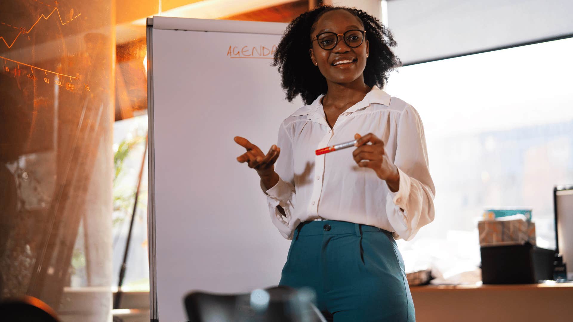
[[[186,321],[191,290],[277,285],[289,241],[234,136],[276,144],[288,103],[272,52],[286,24],[148,21],[151,319]],[[280,163],[280,158],[278,159]]]

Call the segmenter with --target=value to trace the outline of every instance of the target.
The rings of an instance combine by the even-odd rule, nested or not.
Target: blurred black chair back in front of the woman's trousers
[[[325,321],[312,305],[312,295],[287,286],[242,294],[191,292],[185,297],[190,322]]]

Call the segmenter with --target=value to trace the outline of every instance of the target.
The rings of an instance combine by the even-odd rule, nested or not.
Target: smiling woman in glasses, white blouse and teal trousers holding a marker
[[[410,240],[433,221],[434,184],[418,113],[379,89],[401,64],[395,45],[362,10],[300,15],[274,65],[286,98],[307,105],[283,121],[266,155],[235,138],[247,150],[237,160],[257,171],[274,225],[292,239],[280,284],[315,289],[334,321],[415,320],[394,238]],[[315,155],[352,138],[354,151]]]

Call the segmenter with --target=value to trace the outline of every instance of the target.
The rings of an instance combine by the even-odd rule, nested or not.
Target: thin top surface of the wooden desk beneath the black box
[[[573,290],[573,282],[556,283],[548,281],[539,284],[464,284],[464,285],[422,285],[411,286],[410,292],[435,292],[437,290],[530,290],[530,289],[562,289]]]

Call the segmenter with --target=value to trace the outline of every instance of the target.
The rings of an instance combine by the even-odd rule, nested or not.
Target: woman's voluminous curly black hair
[[[390,30],[378,19],[366,12],[348,7],[320,6],[294,19],[274,52],[272,65],[278,66],[286,99],[292,101],[297,95],[304,104],[311,104],[319,95],[327,92],[327,83],[320,70],[312,63],[308,49],[311,48],[313,25],[321,15],[332,10],[346,10],[362,21],[370,52],[364,68],[364,83],[382,88],[388,81],[388,72],[402,65],[390,47],[397,45]]]

